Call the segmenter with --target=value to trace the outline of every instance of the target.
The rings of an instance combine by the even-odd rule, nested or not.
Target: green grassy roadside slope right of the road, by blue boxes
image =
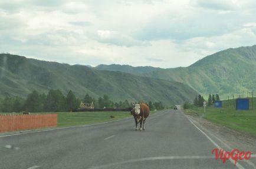
[[[185,113],[204,117],[230,129],[256,136],[256,110],[235,110],[234,104],[231,104],[233,102],[234,100],[229,100],[228,104],[227,100],[223,101],[222,108],[208,106],[206,107],[206,113],[204,113],[204,107],[191,106],[191,108],[185,110]]]

